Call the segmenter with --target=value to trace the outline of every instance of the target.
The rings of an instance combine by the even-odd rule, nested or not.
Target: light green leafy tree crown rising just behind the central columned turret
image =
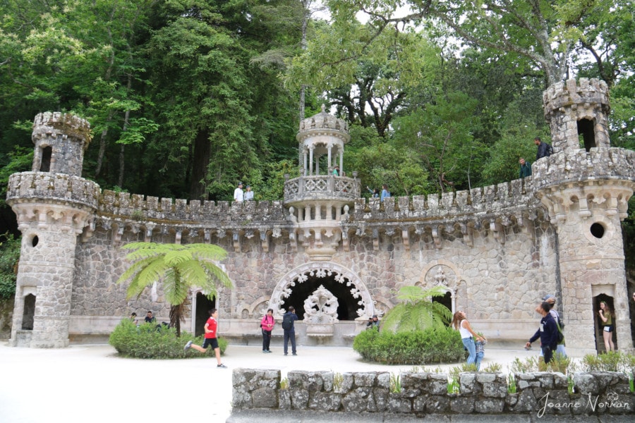
[[[306,51],[291,61],[286,82],[326,92],[350,123],[386,137],[409,90],[429,78],[436,58],[430,42],[409,29],[377,35],[356,22],[320,25]]]

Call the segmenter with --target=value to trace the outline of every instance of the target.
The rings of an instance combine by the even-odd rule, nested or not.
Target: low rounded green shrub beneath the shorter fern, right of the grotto
[[[451,328],[363,331],[353,340],[353,350],[365,360],[384,364],[458,362],[465,357],[461,335]]]

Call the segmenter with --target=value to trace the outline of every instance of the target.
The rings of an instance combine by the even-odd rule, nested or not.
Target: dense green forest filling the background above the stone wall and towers
[[[298,110],[325,103],[363,186],[475,188],[533,161],[541,93],[579,77],[607,82],[612,145],[635,148],[632,1],[329,0],[328,21],[311,4],[0,2],[0,185],[30,169],[35,114],[69,111],[104,189],[231,200],[242,180],[280,200]]]

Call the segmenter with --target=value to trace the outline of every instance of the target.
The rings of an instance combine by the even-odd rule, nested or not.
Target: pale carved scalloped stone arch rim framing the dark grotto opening
[[[356,315],[349,315],[348,320],[367,320],[375,314],[375,305],[368,288],[353,271],[331,262],[310,262],[296,267],[284,275],[274,288],[270,300],[274,316],[282,317],[283,309],[286,309],[286,300],[293,295],[294,288],[308,282],[312,283],[311,288],[315,290],[329,280],[334,284],[332,284],[333,288],[345,289],[350,293],[351,301],[356,302],[350,304],[351,301],[349,301],[348,307],[352,307]],[[300,309],[296,307],[296,311],[300,311]]]

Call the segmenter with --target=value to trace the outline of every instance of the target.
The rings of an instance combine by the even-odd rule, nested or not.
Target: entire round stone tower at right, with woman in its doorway
[[[567,349],[604,350],[600,301],[615,309],[614,341],[633,348],[620,222],[635,188],[635,152],[610,147],[608,87],[568,80],[543,94],[552,156],[532,166],[537,195],[557,233],[560,293]]]

